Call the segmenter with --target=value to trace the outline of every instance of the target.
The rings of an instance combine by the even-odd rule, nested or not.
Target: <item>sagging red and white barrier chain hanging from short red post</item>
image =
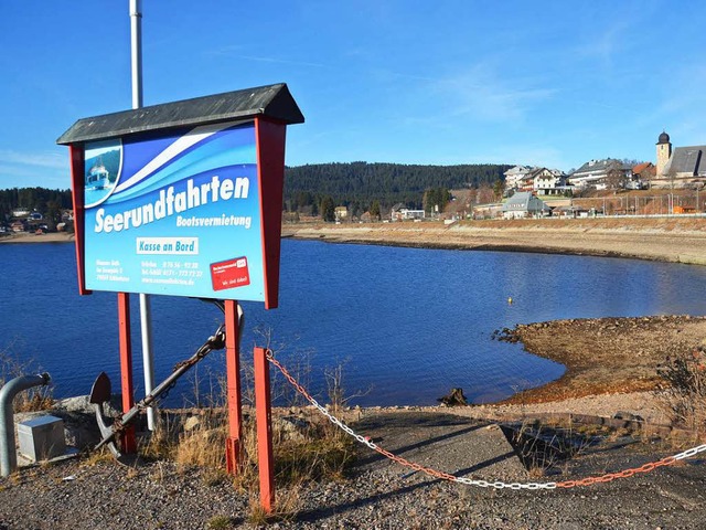
[[[374,444],[373,442],[371,442],[370,438],[355,433],[351,427],[349,427],[341,420],[331,415],[331,413],[329,413],[329,411],[324,406],[319,404],[319,402],[314,400],[311,396],[311,394],[309,394],[309,392],[307,392],[307,389],[304,389],[301,384],[299,384],[297,380],[287,371],[287,369],[282,367],[282,364],[277,359],[272,357],[271,351],[267,352],[267,360],[271,362],[275,367],[277,367],[277,369],[292,384],[292,386],[301,395],[303,395],[306,400],[309,403],[311,403],[319,412],[321,412],[321,414],[327,416],[331,423],[333,423],[335,426],[341,428],[346,434],[353,436],[361,444],[366,445],[367,447],[379,453],[386,458],[389,458],[391,460],[396,462],[397,464],[400,464],[405,467],[409,467],[415,471],[420,471],[431,477],[439,478],[441,480],[449,480],[452,483],[466,484],[468,486],[475,486],[479,488],[494,488],[494,489],[532,489],[532,490],[557,489],[557,488],[568,489],[568,488],[575,488],[577,486],[591,486],[593,484],[610,483],[611,480],[614,480],[617,478],[632,477],[633,475],[637,475],[639,473],[649,473],[659,467],[670,466],[672,464],[675,464],[676,462],[683,460],[684,458],[691,458],[692,456],[695,456],[706,451],[706,444],[703,444],[697,447],[692,447],[691,449],[678,453],[674,456],[667,456],[665,458],[662,458],[661,460],[651,462],[640,467],[634,467],[634,468],[625,469],[623,471],[618,471],[618,473],[608,473],[599,477],[587,477],[578,480],[565,480],[563,483],[502,483],[502,481],[489,483],[488,480],[474,480],[466,477],[457,477],[454,475],[450,475],[445,471],[439,471],[437,469],[425,467],[420,464],[416,464],[414,462],[407,460],[402,456],[397,456],[388,451],[385,451],[384,448],[379,447],[377,444]]]

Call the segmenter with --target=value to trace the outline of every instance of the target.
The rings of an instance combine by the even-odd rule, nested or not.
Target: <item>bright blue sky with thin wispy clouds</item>
[[[76,119],[131,107],[128,0],[0,7],[0,188],[68,188]],[[287,163],[654,161],[706,144],[705,2],[143,0],[145,105],[285,82]],[[700,110],[699,110],[700,109]]]

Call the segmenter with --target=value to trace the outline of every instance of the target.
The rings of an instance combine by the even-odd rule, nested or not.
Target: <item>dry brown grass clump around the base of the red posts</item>
[[[265,513],[259,506],[256,424],[249,415],[243,422],[240,467],[236,476],[225,471],[227,417],[222,409],[191,411],[181,417],[162,413],[158,428],[140,444],[139,453],[143,458],[175,462],[183,473],[197,467],[206,485],[231,481],[236,490],[249,495],[250,519],[255,524],[291,520],[299,509],[303,485],[343,478],[354,458],[353,442],[331,430],[325,418],[313,414],[287,421],[275,416],[277,497],[271,513]],[[97,458],[99,462],[103,457]],[[225,524],[225,520],[221,523]]]

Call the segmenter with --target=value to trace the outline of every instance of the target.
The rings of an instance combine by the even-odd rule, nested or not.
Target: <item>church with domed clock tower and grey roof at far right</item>
[[[672,148],[670,135],[662,131],[656,144],[655,188],[687,188],[706,182],[706,146]]]

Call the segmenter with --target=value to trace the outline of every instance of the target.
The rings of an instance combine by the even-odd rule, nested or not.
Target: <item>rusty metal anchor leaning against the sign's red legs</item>
[[[225,307],[221,300],[213,301],[221,310],[225,311]],[[238,304],[238,335],[243,324],[243,308]],[[238,337],[239,338],[239,337]],[[196,364],[201,359],[206,357],[213,350],[221,350],[225,347],[225,325],[221,325],[216,332],[208,337],[208,339],[196,350],[196,352],[189,359],[179,362],[174,367],[174,371],[160,384],[158,384],[149,394],[137,402],[129,411],[116,418],[111,425],[107,425],[104,416],[103,404],[110,400],[111,385],[110,378],[105,372],[100,372],[96,381],[90,389],[90,395],[88,398],[89,403],[94,405],[96,412],[96,421],[98,423],[98,430],[103,438],[96,445],[96,449],[107,445],[118,462],[126,463],[128,458],[120,453],[115,439],[127,425],[135,422],[139,414],[156,401],[165,398],[169,391],[176,384],[176,380],[181,378],[191,367]]]

